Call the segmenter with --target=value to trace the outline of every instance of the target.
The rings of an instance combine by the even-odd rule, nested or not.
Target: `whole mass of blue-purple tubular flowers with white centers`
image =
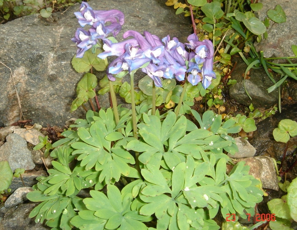
[[[80,12],[75,13],[79,24],[92,26],[89,31],[78,28],[72,41],[77,43],[76,57],[83,57],[86,50],[102,41],[103,52],[98,55],[105,59],[117,56],[107,68],[107,77],[114,81],[115,75],[121,72],[131,73],[141,70],[153,79],[158,87],[162,87],[161,78],[187,80],[192,85],[202,81],[206,89],[215,73],[213,71],[214,48],[209,40],[199,41],[196,34],[188,36],[189,43],[182,44],[177,38],[164,37],[162,40],[148,31],[144,35],[137,31],[126,31],[124,41],[113,43],[107,37],[112,33],[116,36],[124,23],[124,14],[118,10],[95,11],[82,2]],[[106,25],[106,22],[110,22]],[[187,52],[186,47],[190,50]]]

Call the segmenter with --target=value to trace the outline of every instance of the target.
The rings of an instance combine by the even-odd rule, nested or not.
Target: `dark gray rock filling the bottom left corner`
[[[38,203],[19,204],[11,208],[1,208],[4,213],[0,221],[0,229],[5,230],[48,230],[41,223],[35,223],[35,220],[29,218],[30,212]]]

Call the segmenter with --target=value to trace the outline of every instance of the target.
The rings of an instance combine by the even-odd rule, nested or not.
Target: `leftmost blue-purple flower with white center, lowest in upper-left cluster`
[[[77,44],[78,50],[76,51],[76,57],[82,58],[84,53],[91,49],[97,41],[92,40],[91,34],[82,28],[78,28],[75,32],[75,37],[71,39]]]

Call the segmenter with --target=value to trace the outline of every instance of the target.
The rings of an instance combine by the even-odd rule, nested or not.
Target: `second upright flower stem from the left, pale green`
[[[136,108],[135,108],[135,98],[134,98],[134,71],[130,73],[130,86],[131,86],[131,106],[132,106],[132,124],[133,124],[133,136],[138,140],[137,135],[137,117],[136,117]],[[139,152],[135,152],[135,164],[136,169],[139,172],[139,175],[141,175],[140,172],[140,166],[139,166]]]

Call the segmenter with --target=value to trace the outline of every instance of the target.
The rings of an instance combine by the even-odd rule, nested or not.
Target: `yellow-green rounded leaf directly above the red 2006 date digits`
[[[277,217],[291,219],[289,206],[285,197],[282,196],[282,199],[272,199],[267,202],[267,206],[270,212],[274,213]]]

